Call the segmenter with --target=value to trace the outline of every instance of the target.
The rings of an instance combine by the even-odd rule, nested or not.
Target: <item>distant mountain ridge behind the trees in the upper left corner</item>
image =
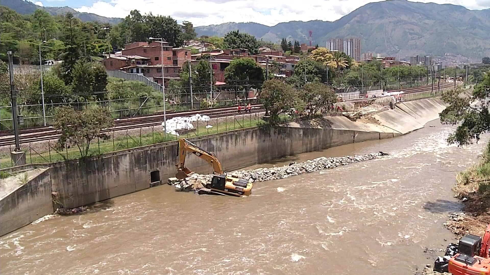
[[[77,12],[71,7],[41,7],[25,0],[0,0],[0,5],[9,7],[20,14],[31,14],[36,9],[44,9],[50,15],[65,15],[67,12],[71,12],[75,18],[83,22],[98,21],[100,23],[117,24],[122,20],[121,18],[103,17],[93,13]]]

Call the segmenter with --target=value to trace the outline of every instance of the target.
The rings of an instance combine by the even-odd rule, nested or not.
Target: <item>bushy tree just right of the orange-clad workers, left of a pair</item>
[[[259,101],[264,105],[271,124],[279,122],[279,115],[289,112],[296,105],[293,87],[274,79],[264,82]]]

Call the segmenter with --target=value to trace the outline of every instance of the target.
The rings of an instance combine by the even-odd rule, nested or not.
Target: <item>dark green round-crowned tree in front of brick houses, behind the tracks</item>
[[[264,82],[264,69],[251,58],[238,58],[224,69],[224,80],[228,85],[261,85]]]

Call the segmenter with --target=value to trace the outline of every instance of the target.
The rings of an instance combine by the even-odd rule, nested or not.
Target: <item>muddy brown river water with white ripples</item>
[[[0,238],[1,274],[413,274],[433,262],[425,247],[454,238],[451,186],[485,143],[447,146],[453,128],[428,125],[257,165],[391,154],[256,183],[248,198],[163,185],[28,225]]]

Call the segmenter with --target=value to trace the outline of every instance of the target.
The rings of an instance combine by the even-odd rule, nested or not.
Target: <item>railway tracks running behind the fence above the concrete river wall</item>
[[[450,88],[454,84],[448,83],[441,85],[441,89]],[[434,87],[436,90],[437,88]],[[404,91],[404,94],[416,93],[416,92],[427,92],[432,90],[432,85],[426,85],[416,88],[409,89],[400,89],[400,90],[391,90],[387,92],[398,92]],[[370,100],[372,98],[366,99],[352,99],[348,101],[364,101]],[[259,113],[264,112],[265,110],[262,108],[262,105],[257,104],[252,106],[251,113]],[[191,116],[191,115],[207,115],[210,118],[219,118],[230,115],[239,115],[236,107],[226,107],[226,108],[217,108],[217,109],[206,109],[206,110],[198,110],[198,111],[182,111],[175,113],[168,113],[167,119],[171,119],[177,116]],[[113,132],[113,131],[123,131],[130,129],[137,129],[143,127],[152,127],[158,126],[163,122],[163,114],[152,114],[152,115],[141,115],[134,117],[125,117],[125,118],[116,118],[114,120],[114,127],[110,129],[104,129],[102,132]],[[52,126],[40,126],[40,127],[29,127],[23,128],[19,130],[20,142],[21,143],[30,143],[37,141],[45,141],[50,139],[56,139],[60,135],[58,131],[53,129]],[[14,145],[15,138],[13,137],[13,130],[3,130],[0,131],[0,147]]]

